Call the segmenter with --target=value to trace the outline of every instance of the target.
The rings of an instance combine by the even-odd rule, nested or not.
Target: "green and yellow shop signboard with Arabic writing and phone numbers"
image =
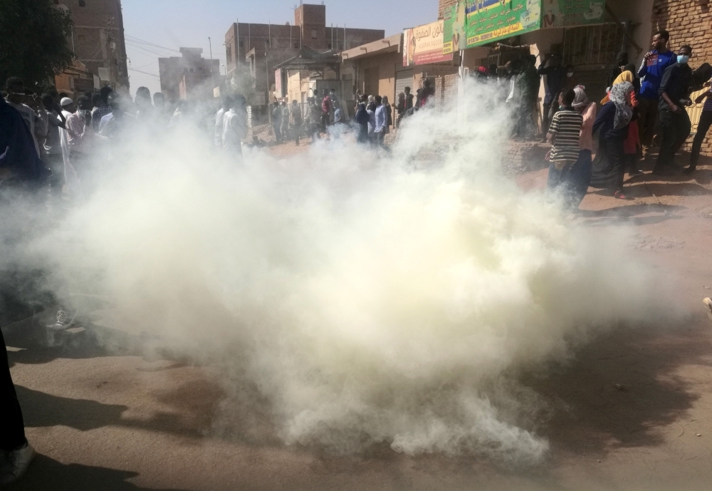
[[[443,53],[537,29],[601,24],[605,0],[459,0],[444,14]]]

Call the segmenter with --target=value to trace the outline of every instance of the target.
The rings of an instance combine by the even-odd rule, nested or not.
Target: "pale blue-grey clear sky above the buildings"
[[[122,0],[131,94],[146,86],[160,91],[158,58],[180,56],[178,48],[203,48],[225,63],[225,33],[231,24],[286,24],[298,0]],[[305,3],[321,3],[313,0]],[[437,20],[437,0],[326,0],[326,24],[384,29],[392,36]],[[224,67],[221,66],[221,73]]]

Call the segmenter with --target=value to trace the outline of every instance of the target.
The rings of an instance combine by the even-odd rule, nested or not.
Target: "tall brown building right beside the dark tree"
[[[128,93],[124,21],[120,0],[54,0],[74,22],[71,46],[86,71],[102,85]]]

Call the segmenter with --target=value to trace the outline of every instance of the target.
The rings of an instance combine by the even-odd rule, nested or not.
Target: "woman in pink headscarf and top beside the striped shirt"
[[[593,123],[596,120],[597,105],[588,100],[584,86],[574,87],[576,97],[572,107],[583,117],[581,133],[579,136],[579,158],[569,171],[570,205],[579,207],[586,195],[591,182],[591,165],[593,153]]]

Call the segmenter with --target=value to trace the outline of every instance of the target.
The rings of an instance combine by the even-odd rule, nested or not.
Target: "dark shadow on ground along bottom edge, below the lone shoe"
[[[129,479],[137,477],[137,472],[127,470],[108,469],[107,467],[93,467],[91,465],[62,464],[56,460],[37,455],[27,470],[26,475],[10,490],[52,490],[52,491],[149,491],[147,487],[140,487]],[[188,490],[157,490],[151,491],[188,491]]]

